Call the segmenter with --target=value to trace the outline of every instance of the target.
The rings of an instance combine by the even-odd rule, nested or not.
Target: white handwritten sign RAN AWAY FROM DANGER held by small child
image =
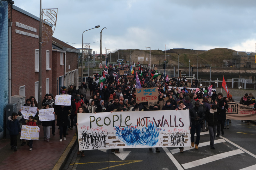
[[[38,140],[39,139],[39,127],[22,125],[21,139],[26,140]]]

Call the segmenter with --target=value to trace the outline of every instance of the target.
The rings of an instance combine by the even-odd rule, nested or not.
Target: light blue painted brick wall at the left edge
[[[0,139],[5,129],[6,105],[8,104],[8,2],[2,1],[0,7],[2,24],[0,24]]]

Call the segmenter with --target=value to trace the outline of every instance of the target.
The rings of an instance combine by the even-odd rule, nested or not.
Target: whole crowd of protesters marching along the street
[[[124,70],[124,75],[119,75],[118,72]],[[69,94],[71,98],[71,106],[54,105],[54,96],[46,94],[45,99],[42,101],[43,108],[54,108],[54,114],[57,115],[57,126],[60,129],[60,142],[66,140],[69,130],[77,127],[77,113],[99,113],[99,112],[118,112],[118,111],[157,111],[157,110],[186,110],[189,109],[190,117],[190,132],[191,132],[191,146],[198,149],[200,132],[209,131],[210,146],[214,147],[214,138],[224,135],[224,129],[229,129],[231,120],[226,119],[226,109],[228,109],[227,102],[234,102],[232,95],[224,97],[222,93],[216,93],[215,90],[209,93],[208,87],[203,88],[197,79],[192,83],[186,77],[172,77],[166,78],[163,74],[153,77],[157,70],[147,69],[140,66],[134,66],[135,74],[131,74],[131,66],[129,65],[109,65],[107,69],[102,70],[100,75],[89,76],[87,84],[83,82],[78,89],[70,86],[66,88],[61,87],[60,94]],[[99,78],[105,74],[106,80],[99,83]],[[158,88],[158,101],[155,103],[149,102],[136,102],[136,77],[138,75],[139,83],[142,88]],[[88,86],[87,86],[88,85]],[[196,88],[196,89],[189,89]],[[212,86],[213,89],[214,83]],[[87,90],[89,90],[90,98],[86,98]],[[253,94],[245,94],[241,98],[240,104],[251,105],[255,103]],[[32,96],[27,99],[25,106],[38,107],[35,98]],[[254,106],[255,107],[255,106]],[[255,107],[256,108],[256,107]],[[256,109],[254,109],[256,110]],[[13,114],[9,118],[7,129],[11,131],[10,127],[16,124],[16,116],[21,115]],[[36,120],[36,121],[34,121]],[[30,121],[30,119],[29,119]],[[35,118],[32,118],[33,124],[37,124],[38,113]],[[250,121],[246,121],[250,124]],[[28,122],[27,122],[28,123]],[[25,119],[22,119],[22,125],[26,124]],[[52,135],[55,136],[55,120],[43,121],[44,140],[49,142],[50,129]],[[8,127],[9,126],[9,127]],[[76,128],[77,131],[77,128]],[[18,126],[11,135],[12,149],[17,146],[17,135],[21,132]],[[194,139],[196,133],[196,140]],[[78,139],[77,139],[78,142]],[[24,140],[21,145],[25,145]],[[32,143],[28,142],[32,150]],[[183,147],[180,147],[180,153],[183,153]],[[15,148],[16,150],[16,148]],[[152,148],[150,148],[152,150]],[[119,149],[112,149],[112,152],[120,153]],[[156,152],[159,149],[156,148]],[[77,153],[80,155],[80,151]],[[84,152],[81,152],[84,157]]]

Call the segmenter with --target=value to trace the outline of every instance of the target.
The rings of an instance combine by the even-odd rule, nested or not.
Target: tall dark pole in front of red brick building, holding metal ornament
[[[42,108],[42,0],[40,0],[39,19],[39,69],[38,69],[38,109]]]

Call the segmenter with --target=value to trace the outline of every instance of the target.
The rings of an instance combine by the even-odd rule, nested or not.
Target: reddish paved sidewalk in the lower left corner
[[[51,170],[61,169],[69,153],[74,147],[76,129],[68,131],[66,141],[59,142],[59,130],[56,126],[55,137],[50,135],[50,142],[43,140],[43,127],[39,126],[39,140],[33,141],[33,151],[29,151],[29,146],[20,146],[18,139],[17,151],[11,150],[10,139],[0,140],[0,169],[33,169],[33,170]],[[73,139],[74,138],[74,139]],[[62,163],[61,163],[62,162]]]

